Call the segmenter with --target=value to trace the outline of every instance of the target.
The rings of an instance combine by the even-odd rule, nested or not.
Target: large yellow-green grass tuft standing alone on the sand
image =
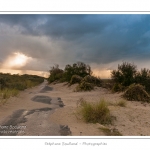
[[[86,122],[100,124],[110,124],[112,122],[110,110],[104,99],[97,103],[89,103],[82,99],[79,114]]]

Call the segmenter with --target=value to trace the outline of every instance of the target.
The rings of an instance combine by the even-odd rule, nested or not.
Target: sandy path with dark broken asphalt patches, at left
[[[50,96],[51,90],[45,81],[1,106],[0,135],[69,135],[67,126],[49,119],[55,109],[63,107],[61,98]]]

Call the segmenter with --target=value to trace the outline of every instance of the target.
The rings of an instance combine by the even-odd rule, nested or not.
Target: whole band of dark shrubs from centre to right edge
[[[77,83],[74,90],[77,92],[91,91],[97,86],[112,92],[123,92],[123,96],[128,100],[149,101],[150,70],[144,68],[138,71],[136,65],[128,62],[119,64],[117,70],[111,71],[111,79],[106,80],[93,76],[91,67],[83,62],[68,64],[64,70],[55,65],[50,70],[48,81],[49,83],[68,82],[69,85]],[[133,87],[133,84],[137,86]],[[135,94],[138,91],[139,93]]]

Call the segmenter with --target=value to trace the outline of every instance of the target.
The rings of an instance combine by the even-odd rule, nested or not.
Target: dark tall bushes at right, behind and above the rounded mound
[[[125,91],[131,84],[136,83],[143,85],[145,90],[150,92],[150,70],[143,68],[137,70],[137,66],[128,62],[118,65],[118,70],[111,72],[111,78],[114,82],[113,90]]]

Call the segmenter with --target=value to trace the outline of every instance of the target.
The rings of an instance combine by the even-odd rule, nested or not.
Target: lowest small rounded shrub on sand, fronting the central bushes
[[[93,84],[82,81],[77,87],[76,87],[76,92],[79,91],[91,91],[94,89]]]

